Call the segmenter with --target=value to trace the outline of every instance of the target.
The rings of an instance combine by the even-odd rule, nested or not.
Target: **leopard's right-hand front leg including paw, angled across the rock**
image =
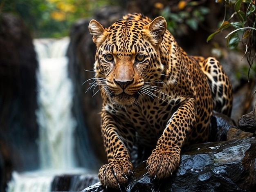
[[[147,160],[147,170],[153,179],[171,176],[180,163],[182,144],[195,125],[196,101],[194,98],[182,102],[168,121],[155,149]]]

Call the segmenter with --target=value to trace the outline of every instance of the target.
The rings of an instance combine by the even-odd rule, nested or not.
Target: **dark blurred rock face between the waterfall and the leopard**
[[[83,88],[83,83],[94,76],[93,72],[87,72],[85,70],[93,70],[94,52],[96,51],[96,47],[94,47],[93,42],[91,42],[88,24],[89,20],[83,20],[72,27],[70,45],[67,52],[67,56],[69,57],[69,75],[73,82],[75,93],[73,99],[73,114],[77,122],[76,132],[81,136],[80,138],[86,138],[83,141],[76,141],[78,142],[76,146],[79,147],[79,151],[83,151],[83,153],[78,154],[78,159],[87,159],[86,156],[91,156],[92,154],[85,154],[85,151],[87,151],[85,149],[85,141],[90,140],[87,146],[94,146],[92,148],[96,153],[98,152],[98,159],[104,159],[103,143],[100,137],[97,137],[97,135],[101,135],[99,115],[101,110],[101,97],[100,94],[97,94],[92,98],[92,92],[89,91],[85,94],[88,86],[86,86],[85,89]],[[99,144],[96,145],[95,143]],[[85,166],[84,162],[79,162],[79,164]],[[98,164],[97,168],[99,168],[101,163]],[[94,167],[94,169],[97,168]]]

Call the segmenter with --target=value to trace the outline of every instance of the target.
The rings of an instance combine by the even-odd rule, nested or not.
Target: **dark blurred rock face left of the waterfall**
[[[38,167],[38,63],[29,31],[20,19],[2,14],[0,26],[0,159],[5,183],[12,169]]]

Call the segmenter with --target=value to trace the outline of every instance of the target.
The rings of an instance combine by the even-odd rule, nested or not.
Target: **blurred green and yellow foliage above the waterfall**
[[[119,0],[2,0],[0,13],[13,13],[25,21],[34,38],[67,36],[74,21],[92,16],[106,4]]]

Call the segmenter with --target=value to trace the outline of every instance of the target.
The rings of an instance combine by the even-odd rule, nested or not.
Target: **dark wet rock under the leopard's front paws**
[[[256,190],[256,138],[194,145],[181,156],[181,163],[172,177],[153,181],[145,164],[122,191],[255,191]],[[142,167],[142,168],[141,168]],[[109,192],[96,183],[83,192]]]

